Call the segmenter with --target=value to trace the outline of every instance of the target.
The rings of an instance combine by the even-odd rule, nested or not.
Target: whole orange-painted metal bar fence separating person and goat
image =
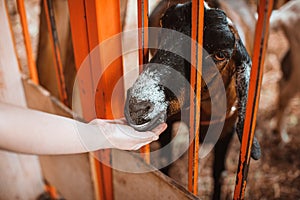
[[[75,63],[77,70],[87,58],[89,53],[105,39],[121,32],[120,23],[120,5],[119,1],[111,0],[69,0],[70,23],[73,38]],[[28,34],[26,13],[24,2],[17,0],[20,12],[21,23],[23,27],[24,41],[28,57],[28,65],[30,76],[35,83],[38,83],[36,66],[33,61],[32,48]],[[138,3],[138,28],[139,30],[139,65],[142,66],[148,62],[148,0],[137,0]],[[52,48],[54,52],[55,68],[57,71],[58,86],[60,89],[61,101],[67,104],[66,89],[64,76],[62,73],[62,64],[60,61],[59,44],[56,34],[55,20],[53,16],[53,8],[51,0],[44,0],[48,29]],[[246,188],[247,173],[250,165],[251,144],[254,136],[255,121],[258,110],[258,101],[260,94],[260,86],[263,72],[263,61],[266,49],[266,41],[268,35],[268,22],[273,6],[273,0],[260,0],[259,18],[256,26],[255,44],[253,53],[253,66],[251,71],[248,103],[246,109],[246,118],[241,151],[239,157],[239,166],[236,178],[236,186],[234,199],[244,199]],[[190,142],[189,160],[188,160],[188,189],[194,194],[198,191],[198,151],[199,151],[199,130],[200,123],[200,102],[201,102],[201,70],[202,70],[202,42],[203,42],[203,18],[204,18],[204,1],[192,1],[192,31],[191,37],[197,43],[192,42],[191,47],[191,87],[195,91],[191,92],[190,97]],[[105,18],[103,17],[105,16]],[[109,27],[109,28],[108,28]],[[77,39],[80,38],[80,39]],[[116,49],[121,52],[121,43],[117,44]],[[113,49],[113,51],[116,51]],[[110,50],[108,50],[110,51]],[[120,54],[121,55],[121,54]],[[100,55],[99,55],[100,58]],[[84,87],[82,91],[81,103],[83,108],[83,117],[90,121],[95,116],[99,118],[115,118],[123,115],[123,107],[120,103],[111,103],[112,91],[115,84],[123,76],[122,57],[116,59],[105,71],[99,83],[97,77],[94,77],[92,67],[94,64],[101,65],[101,60],[89,60],[89,67],[86,73],[79,80]],[[101,69],[99,69],[101,70]],[[142,68],[140,68],[142,71]],[[84,90],[84,91],[83,91]],[[124,94],[124,91],[119,91]],[[95,105],[90,102],[96,99]],[[124,102],[124,96],[121,95],[120,102]],[[111,110],[111,104],[117,105],[114,113]],[[119,107],[118,107],[119,106]],[[149,157],[150,147],[147,145],[142,149],[142,153],[146,153],[144,157],[147,163],[150,163]],[[111,152],[109,150],[99,151],[99,156],[110,162]],[[96,191],[97,198],[113,199],[112,169],[103,165],[98,160],[94,160],[94,171],[96,173]]]

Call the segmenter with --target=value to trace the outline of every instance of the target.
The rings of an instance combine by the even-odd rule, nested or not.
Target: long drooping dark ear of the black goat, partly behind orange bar
[[[233,56],[236,66],[236,92],[238,97],[238,122],[236,125],[236,132],[239,140],[242,141],[252,61],[235,27],[229,24],[229,28],[236,40],[235,53]],[[251,157],[258,160],[260,156],[260,145],[254,136]]]

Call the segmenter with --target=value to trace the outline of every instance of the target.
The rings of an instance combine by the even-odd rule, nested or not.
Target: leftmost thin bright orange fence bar
[[[17,0],[17,6],[18,6],[21,25],[22,25],[22,29],[23,29],[22,33],[23,33],[23,37],[24,37],[24,43],[25,43],[25,49],[26,49],[26,55],[27,55],[29,76],[34,83],[38,84],[39,78],[38,78],[38,74],[37,74],[35,60],[33,57],[33,51],[32,51],[32,46],[31,46],[31,41],[30,41],[30,35],[29,35],[29,31],[28,31],[28,23],[27,23],[27,18],[26,18],[26,10],[25,10],[25,5],[24,5],[24,0]]]

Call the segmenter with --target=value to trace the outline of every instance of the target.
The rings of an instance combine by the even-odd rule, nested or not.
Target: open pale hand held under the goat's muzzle
[[[127,125],[125,118],[116,120],[94,119],[89,124],[96,125],[101,130],[110,143],[110,148],[122,150],[137,150],[157,140],[167,128],[167,124],[162,123],[151,131],[139,132]]]

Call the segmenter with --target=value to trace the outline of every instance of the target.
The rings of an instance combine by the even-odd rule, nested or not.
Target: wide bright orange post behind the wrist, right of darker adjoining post
[[[88,0],[89,1],[89,0]],[[111,0],[96,0],[96,16],[97,16],[97,26],[98,26],[98,39],[99,43],[105,41],[115,34],[121,32],[121,21],[120,21],[120,1],[111,1]],[[107,29],[107,27],[110,27]],[[120,57],[118,57],[113,63],[109,65],[106,71],[103,73],[96,90],[96,112],[97,117],[105,119],[113,119],[115,117],[123,116],[124,110],[124,85],[122,82],[122,87],[115,92],[118,95],[117,102],[112,100],[112,92],[114,87],[123,76],[123,62],[122,62],[122,47],[121,41],[114,44],[114,49],[105,49],[105,51],[119,52]],[[101,57],[100,51],[100,59]],[[110,53],[109,53],[110,54]],[[113,53],[111,53],[113,54]],[[105,67],[100,60],[101,68]],[[97,101],[98,100],[98,101]],[[103,106],[105,105],[105,106]],[[112,107],[117,112],[112,112]],[[102,160],[106,159],[107,163],[111,163],[111,151],[102,150],[99,151],[100,157]],[[101,164],[101,163],[99,163]],[[102,199],[110,200],[113,199],[113,173],[112,169],[109,166],[104,164],[100,165],[101,176],[101,185],[104,189],[105,196]]]

